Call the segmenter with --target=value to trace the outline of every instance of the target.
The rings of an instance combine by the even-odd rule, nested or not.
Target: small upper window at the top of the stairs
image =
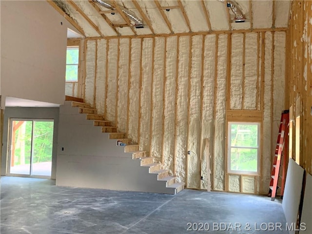
[[[66,81],[78,81],[79,47],[67,47]]]

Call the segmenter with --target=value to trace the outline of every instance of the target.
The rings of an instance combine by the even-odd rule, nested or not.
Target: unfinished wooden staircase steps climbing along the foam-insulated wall
[[[65,102],[65,105],[66,104],[70,105],[72,109],[78,109],[78,113],[80,115],[85,115],[86,120],[93,121],[93,126],[100,127],[102,133],[108,134],[107,140],[115,141],[115,145],[113,147],[116,147],[116,145],[119,144],[117,149],[123,148],[124,149],[123,151],[126,155],[129,155],[133,160],[136,160],[139,162],[137,163],[138,167],[146,170],[148,174],[150,174],[152,177],[154,176],[153,179],[157,180],[156,183],[162,183],[162,186],[164,186],[164,189],[161,189],[159,192],[157,192],[157,190],[155,190],[154,188],[148,191],[144,189],[139,192],[153,192],[153,193],[165,193],[165,194],[175,195],[181,190],[183,190],[184,183],[177,182],[176,177],[174,176],[169,176],[168,170],[162,169],[161,163],[155,163],[153,160],[153,157],[147,156],[145,151],[140,151],[139,145],[131,144],[132,139],[127,138],[125,133],[118,132],[117,127],[113,126],[113,124],[110,121],[105,120],[103,116],[98,115],[96,109],[92,108],[89,104],[82,102],[81,99],[70,98],[70,101]],[[120,143],[124,143],[125,145],[120,146]],[[123,157],[120,157],[120,160],[122,160],[122,158]],[[114,176],[114,175],[111,175],[111,176]],[[134,177],[137,177],[137,176],[134,176]],[[151,179],[151,177],[149,176],[144,176],[144,177],[146,177],[147,180]],[[133,179],[136,180],[136,178],[133,178]],[[152,181],[151,182],[146,181],[146,183],[151,184]],[[58,184],[58,174],[57,174],[57,184]],[[103,186],[103,188],[106,188],[106,187]],[[107,189],[111,189],[111,187],[107,187]],[[124,189],[122,187],[120,188],[117,187],[117,190],[124,190]],[[131,190],[131,189],[128,188],[125,190]],[[135,188],[133,191],[137,191],[137,190],[139,189]]]

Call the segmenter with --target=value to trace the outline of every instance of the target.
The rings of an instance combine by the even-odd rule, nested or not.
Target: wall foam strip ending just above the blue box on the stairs
[[[130,39],[119,41],[117,126],[119,132],[122,133],[127,131],[129,43]]]

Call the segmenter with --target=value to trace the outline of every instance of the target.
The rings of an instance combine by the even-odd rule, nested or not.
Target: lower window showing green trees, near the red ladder
[[[229,122],[228,172],[259,173],[260,123]]]

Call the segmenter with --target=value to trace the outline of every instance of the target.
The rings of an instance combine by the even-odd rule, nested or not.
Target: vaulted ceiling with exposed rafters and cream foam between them
[[[287,28],[291,6],[290,0],[49,0],[48,2],[85,37]],[[107,7],[100,2],[104,2]],[[239,13],[244,15],[243,20],[237,20]],[[143,27],[136,27],[138,26],[136,19],[143,23]]]

